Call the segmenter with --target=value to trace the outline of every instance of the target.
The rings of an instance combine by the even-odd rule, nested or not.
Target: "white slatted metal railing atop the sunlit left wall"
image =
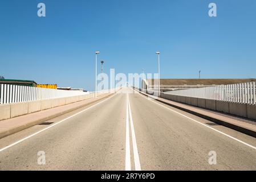
[[[46,100],[88,94],[78,90],[57,90],[31,86],[0,84],[0,104]]]

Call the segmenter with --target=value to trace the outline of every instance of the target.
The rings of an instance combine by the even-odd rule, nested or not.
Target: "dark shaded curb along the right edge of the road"
[[[135,88],[133,88],[135,89]],[[137,90],[137,89],[135,89]],[[141,92],[140,90],[137,90],[140,94],[143,94],[144,96],[147,96],[149,97],[147,94]],[[168,102],[165,102],[165,101],[162,101],[162,100],[159,100],[159,99],[156,99],[156,101],[159,101],[163,104],[166,104],[166,105],[169,105],[169,106],[172,106],[172,107],[175,107],[176,109],[180,109],[182,111],[185,111],[187,113],[190,113],[190,114],[193,114],[193,115],[196,115],[200,118],[204,118],[204,119],[207,119],[209,121],[212,121],[214,123],[217,123],[218,125],[222,125],[222,126],[226,126],[226,127],[229,127],[230,129],[233,129],[233,130],[236,130],[236,131],[239,131],[243,134],[246,134],[246,135],[250,135],[251,137],[254,137],[256,138],[256,131],[254,130],[250,130],[250,129],[247,129],[245,127],[242,127],[242,126],[237,126],[237,125],[234,125],[232,123],[229,123],[229,122],[226,122],[226,121],[223,121],[221,119],[216,119],[214,117],[210,117],[209,115],[204,115],[204,114],[201,114],[201,113],[197,113],[196,111],[192,111],[192,110],[189,110],[189,109],[185,109],[184,107],[180,107],[180,106],[176,106],[176,105],[173,105],[173,104],[170,104]],[[174,101],[173,101],[174,102]]]

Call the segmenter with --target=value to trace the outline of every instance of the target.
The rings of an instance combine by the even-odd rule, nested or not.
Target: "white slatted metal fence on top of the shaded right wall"
[[[175,90],[168,92],[168,94],[255,105],[255,84],[256,82],[247,82],[233,85],[209,86],[206,88]]]

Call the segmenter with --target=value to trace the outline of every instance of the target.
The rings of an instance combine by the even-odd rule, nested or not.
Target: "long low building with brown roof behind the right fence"
[[[241,84],[255,82],[255,78],[245,79],[160,79],[160,89],[162,92],[184,90],[192,88],[204,88],[216,85]],[[147,90],[157,90],[159,87],[158,79],[145,79],[141,86]]]

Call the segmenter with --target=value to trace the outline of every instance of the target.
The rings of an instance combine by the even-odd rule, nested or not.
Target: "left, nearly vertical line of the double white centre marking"
[[[125,171],[131,171],[128,92],[126,94],[126,138],[125,138]]]

